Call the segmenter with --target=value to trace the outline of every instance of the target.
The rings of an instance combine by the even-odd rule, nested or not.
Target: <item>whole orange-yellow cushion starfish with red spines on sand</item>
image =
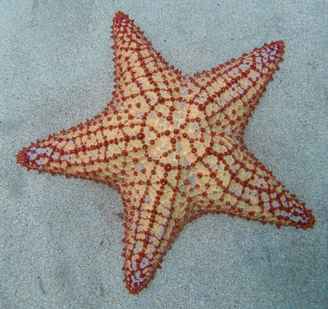
[[[126,287],[147,287],[183,226],[207,213],[313,227],[311,210],[242,144],[283,60],[283,41],[195,73],[169,67],[134,20],[113,18],[113,101],[94,119],[23,147],[27,169],[113,186],[122,195]]]

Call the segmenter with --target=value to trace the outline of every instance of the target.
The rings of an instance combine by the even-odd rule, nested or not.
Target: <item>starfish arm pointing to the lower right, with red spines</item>
[[[284,190],[241,141],[226,134],[215,139],[213,154],[198,162],[193,173],[181,173],[179,191],[190,192],[179,201],[191,212],[186,216],[187,222],[195,219],[196,214],[216,212],[263,224],[275,223],[278,228],[313,228],[316,221],[312,210]]]

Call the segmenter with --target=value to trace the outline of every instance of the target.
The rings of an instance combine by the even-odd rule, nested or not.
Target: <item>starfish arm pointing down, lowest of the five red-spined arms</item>
[[[143,180],[137,188],[131,188],[130,196],[122,195],[126,214],[123,224],[126,247],[122,255],[125,264],[122,270],[125,271],[124,282],[130,294],[138,294],[147,288],[156,269],[161,268],[166,250],[170,249],[164,235],[172,231],[170,222],[173,220],[175,190],[167,180],[159,179],[157,174],[149,174],[146,182]],[[131,200],[131,197],[134,199]]]

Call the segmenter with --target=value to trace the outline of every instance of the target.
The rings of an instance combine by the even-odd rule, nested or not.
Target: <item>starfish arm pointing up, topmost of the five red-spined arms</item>
[[[182,100],[180,84],[185,77],[178,69],[174,70],[174,66],[169,68],[165,59],[144,37],[144,31],[134,26],[129,15],[117,12],[111,28],[116,90],[112,92],[114,98],[110,105],[123,124],[138,117],[140,122],[149,119],[149,123],[160,112],[159,109],[154,112],[154,104],[170,104],[174,101],[172,99]],[[154,125],[157,123],[154,121]]]

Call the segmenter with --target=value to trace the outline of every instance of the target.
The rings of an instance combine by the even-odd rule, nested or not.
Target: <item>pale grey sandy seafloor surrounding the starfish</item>
[[[285,41],[244,141],[313,209],[314,229],[203,216],[148,289],[128,294],[116,191],[27,172],[14,157],[111,100],[117,10],[184,74]],[[0,307],[327,308],[327,26],[327,0],[1,1]]]

